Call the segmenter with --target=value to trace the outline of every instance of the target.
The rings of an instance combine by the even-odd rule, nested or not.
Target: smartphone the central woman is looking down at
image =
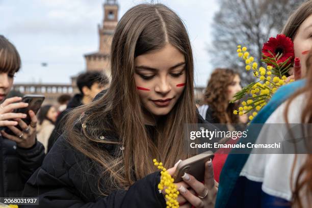
[[[182,176],[184,173],[193,175],[198,181],[203,181],[205,174],[205,163],[209,160],[212,160],[214,156],[215,155],[212,151],[206,151],[179,162],[173,175],[174,183],[183,181]]]

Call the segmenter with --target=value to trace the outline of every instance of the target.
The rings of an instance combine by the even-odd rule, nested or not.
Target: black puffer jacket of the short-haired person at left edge
[[[25,149],[0,136],[0,197],[21,197],[26,181],[41,166],[44,155],[40,142]]]

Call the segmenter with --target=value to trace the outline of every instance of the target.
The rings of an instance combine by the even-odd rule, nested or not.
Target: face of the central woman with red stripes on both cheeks
[[[185,57],[166,44],[135,59],[135,84],[143,107],[154,116],[168,114],[186,84]]]

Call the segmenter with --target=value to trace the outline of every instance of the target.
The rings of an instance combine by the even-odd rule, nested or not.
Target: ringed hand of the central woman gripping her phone
[[[197,208],[215,207],[219,184],[215,181],[214,178],[212,161],[205,163],[204,184],[196,180],[194,176],[187,173],[183,176],[183,180],[197,194],[196,196],[193,192],[189,191],[184,186],[179,188],[181,196],[183,196],[190,204]]]

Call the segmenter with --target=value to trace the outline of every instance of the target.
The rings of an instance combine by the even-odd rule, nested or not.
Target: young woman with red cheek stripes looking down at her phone
[[[24,195],[38,196],[40,206],[166,205],[152,160],[173,167],[190,157],[185,124],[203,122],[196,113],[193,57],[183,22],[161,4],[128,10],[114,33],[111,70],[110,88],[71,112],[63,136],[28,181]],[[195,192],[205,196],[208,186],[216,190],[211,170],[210,162],[204,184],[190,175],[177,184],[178,202],[186,203],[181,207],[206,205],[208,197]]]

